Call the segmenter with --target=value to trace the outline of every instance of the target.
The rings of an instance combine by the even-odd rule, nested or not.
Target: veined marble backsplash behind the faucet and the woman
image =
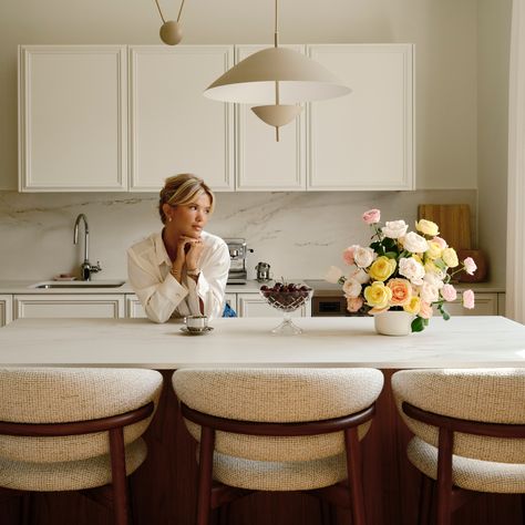
[[[368,244],[361,215],[380,208],[384,220],[413,225],[418,204],[466,203],[476,239],[476,191],[217,193],[207,230],[245,237],[248,277],[259,260],[275,277],[319,279],[330,265],[341,265],[350,244]],[[0,280],[50,279],[79,272],[83,243],[73,245],[78,214],[90,226],[90,260],[100,260],[96,279],[125,278],[126,248],[161,229],[154,194],[0,193]],[[82,228],[82,227],[81,227]]]

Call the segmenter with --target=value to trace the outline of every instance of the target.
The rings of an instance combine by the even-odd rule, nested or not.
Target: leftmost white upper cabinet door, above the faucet
[[[19,191],[127,188],[126,47],[19,52]]]

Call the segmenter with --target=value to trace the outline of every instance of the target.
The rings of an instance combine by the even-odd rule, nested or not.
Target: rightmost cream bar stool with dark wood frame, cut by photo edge
[[[525,493],[525,370],[406,370],[392,390],[415,434],[406,453],[423,474],[420,523],[434,485],[437,525],[480,493]]]

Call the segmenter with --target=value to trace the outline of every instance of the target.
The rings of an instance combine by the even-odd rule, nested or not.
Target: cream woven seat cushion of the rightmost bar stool
[[[409,460],[429,477],[437,477],[437,449],[413,437],[406,449]],[[525,465],[452,456],[452,483],[462,488],[505,494],[525,493]]]

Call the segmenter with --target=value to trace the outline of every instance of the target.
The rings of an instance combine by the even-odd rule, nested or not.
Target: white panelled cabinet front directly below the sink
[[[124,317],[124,294],[16,295],[14,319]]]

